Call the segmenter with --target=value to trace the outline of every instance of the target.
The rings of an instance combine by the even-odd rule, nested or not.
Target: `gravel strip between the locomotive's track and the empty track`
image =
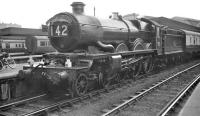
[[[134,93],[151,86],[153,83],[169,77],[178,71],[181,71],[189,66],[199,63],[200,60],[192,61],[190,63],[182,64],[173,68],[169,68],[165,71],[161,71],[158,74],[154,74],[148,77],[143,77],[132,83],[131,86],[124,86],[120,89],[113,90],[109,93],[102,94],[98,97],[83,101],[73,105],[73,109],[63,110],[52,114],[52,116],[99,116],[102,114],[103,109],[111,107],[113,104],[118,103],[121,99],[125,99]]]

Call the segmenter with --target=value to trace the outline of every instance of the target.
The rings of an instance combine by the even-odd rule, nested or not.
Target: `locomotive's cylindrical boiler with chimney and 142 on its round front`
[[[51,44],[59,52],[86,50],[94,53],[94,49],[118,52],[133,48],[131,42],[135,41],[138,29],[131,21],[124,20],[116,12],[111,19],[84,15],[82,2],[71,6],[73,13],[59,13],[47,21]]]

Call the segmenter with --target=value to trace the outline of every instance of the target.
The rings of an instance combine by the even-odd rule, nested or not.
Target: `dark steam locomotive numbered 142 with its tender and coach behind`
[[[73,13],[59,13],[47,21],[50,42],[59,53],[45,54],[43,64],[19,71],[28,90],[81,96],[200,51],[198,32],[147,18],[126,20],[118,13],[98,19],[84,14],[82,2],[71,6]]]

